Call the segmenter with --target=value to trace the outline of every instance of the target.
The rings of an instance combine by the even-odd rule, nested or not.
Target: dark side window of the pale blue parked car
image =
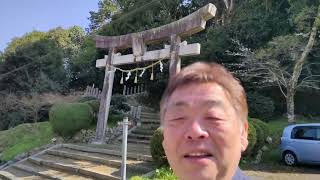
[[[320,139],[320,129],[312,126],[301,126],[295,127],[292,130],[291,138],[293,139],[306,139],[306,140],[317,140]]]

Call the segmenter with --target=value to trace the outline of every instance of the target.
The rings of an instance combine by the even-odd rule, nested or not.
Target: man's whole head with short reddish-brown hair
[[[230,72],[214,63],[182,69],[160,109],[163,147],[179,179],[232,178],[248,145],[248,108]]]

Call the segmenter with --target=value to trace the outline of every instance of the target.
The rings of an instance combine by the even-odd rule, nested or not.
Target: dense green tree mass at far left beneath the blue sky
[[[71,76],[69,61],[78,53],[84,35],[74,26],[14,39],[3,55],[0,90],[20,94],[65,91]]]

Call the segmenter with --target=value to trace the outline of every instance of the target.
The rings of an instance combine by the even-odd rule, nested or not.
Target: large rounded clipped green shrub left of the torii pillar
[[[81,129],[89,128],[93,112],[86,103],[61,103],[52,106],[49,119],[56,133],[70,137]]]

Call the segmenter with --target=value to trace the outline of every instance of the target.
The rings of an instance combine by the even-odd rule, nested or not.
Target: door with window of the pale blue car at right
[[[300,161],[315,162],[319,159],[317,129],[313,126],[298,126],[293,130],[292,146],[297,150]]]

